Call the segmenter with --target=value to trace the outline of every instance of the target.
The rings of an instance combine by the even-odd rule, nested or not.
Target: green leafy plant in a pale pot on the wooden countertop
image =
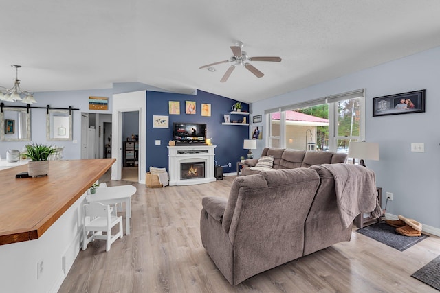
[[[25,148],[26,151],[23,152],[23,157],[31,160],[28,163],[29,176],[46,176],[49,174],[49,161],[47,159],[56,152],[56,148],[39,143],[30,143]]]

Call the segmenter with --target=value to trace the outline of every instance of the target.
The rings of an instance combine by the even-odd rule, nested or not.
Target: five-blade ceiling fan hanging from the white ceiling
[[[250,61],[281,62],[281,57],[275,57],[275,56],[249,57],[245,51],[241,50],[241,48],[243,48],[243,43],[241,43],[241,42],[236,43],[235,46],[231,46],[230,48],[231,48],[232,54],[234,54],[234,56],[232,56],[229,60],[224,60],[224,61],[219,61],[219,62],[214,62],[214,63],[210,63],[207,65],[203,65],[203,66],[199,67],[199,69],[211,67],[213,65],[217,65],[217,64],[221,64],[221,63],[234,62],[234,64],[228,68],[225,75],[223,75],[223,78],[221,78],[221,80],[220,80],[220,82],[226,82],[226,80],[228,80],[229,76],[231,75],[232,71],[234,71],[235,67],[238,65],[244,66],[250,72],[254,73],[254,75],[257,78],[262,78],[264,76],[264,73],[259,71],[259,69],[256,69],[252,64],[250,64],[249,63]]]

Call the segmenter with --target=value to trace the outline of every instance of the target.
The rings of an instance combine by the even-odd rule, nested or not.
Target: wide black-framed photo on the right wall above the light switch
[[[426,89],[373,97],[373,117],[425,112]],[[409,102],[408,102],[409,100]]]

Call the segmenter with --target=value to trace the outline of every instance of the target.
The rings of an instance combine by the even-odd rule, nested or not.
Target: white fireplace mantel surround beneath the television
[[[168,172],[170,185],[194,185],[214,182],[214,149],[217,145],[178,145],[168,146]],[[205,163],[205,177],[184,179],[180,178],[180,163]]]

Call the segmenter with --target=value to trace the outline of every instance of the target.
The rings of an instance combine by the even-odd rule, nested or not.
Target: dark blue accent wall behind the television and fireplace
[[[168,102],[180,102],[180,115],[168,114]],[[195,101],[196,114],[185,114],[185,101]],[[249,126],[222,125],[223,115],[230,114],[234,99],[197,91],[197,95],[178,93],[146,92],[146,169],[166,167],[168,169],[168,141],[173,139],[173,123],[189,122],[206,124],[206,137],[212,138],[215,148],[215,161],[218,165],[232,163],[232,167],[224,167],[223,172],[236,172],[236,162],[245,156],[248,150],[243,149],[243,139],[249,138]],[[211,116],[201,116],[201,104],[211,104]],[[249,112],[249,104],[242,103],[242,110]],[[169,117],[168,128],[153,128],[153,115]],[[243,120],[249,115],[231,115],[231,120]],[[160,140],[161,145],[155,145]]]

